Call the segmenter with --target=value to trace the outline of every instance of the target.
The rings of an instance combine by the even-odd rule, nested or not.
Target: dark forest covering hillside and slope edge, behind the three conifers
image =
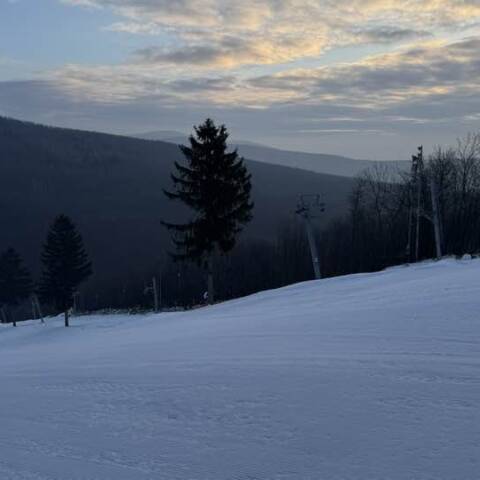
[[[0,247],[20,252],[32,285],[48,226],[68,214],[93,265],[91,280],[75,292],[77,313],[204,303],[205,269],[176,261],[161,225],[187,218],[163,194],[182,159],[177,146],[0,120]],[[253,221],[231,252],[213,256],[216,300],[314,277],[305,222],[295,213],[305,192],[320,193],[325,204],[312,219],[323,278],[434,258],[439,245],[441,255],[478,252],[480,136],[419,156],[411,171],[384,162],[353,180],[246,161]],[[17,318],[28,318],[30,302],[22,305]]]

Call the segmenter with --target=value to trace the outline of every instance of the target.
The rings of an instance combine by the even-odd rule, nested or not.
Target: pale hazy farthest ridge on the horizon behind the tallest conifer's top
[[[182,134],[181,132],[157,131],[135,135],[135,137],[181,144],[187,141],[188,135]],[[386,163],[392,168],[398,168],[401,170],[406,169],[409,166],[408,162],[401,160],[392,162],[356,160],[340,155],[280,150],[278,148],[267,147],[244,140],[232,140],[232,143],[238,147],[240,155],[251,160],[272,165],[301,168],[316,173],[340,175],[343,177],[354,177],[377,163]]]

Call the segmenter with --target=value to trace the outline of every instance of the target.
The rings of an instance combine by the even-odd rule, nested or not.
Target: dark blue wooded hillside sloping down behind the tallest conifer
[[[0,117],[0,250],[16,247],[39,271],[41,244],[55,215],[78,224],[91,253],[99,295],[145,273],[171,247],[161,219],[187,212],[169,202],[176,145],[160,141],[50,128]],[[297,195],[322,193],[324,221],[346,209],[348,178],[247,161],[254,220],[243,238],[275,240],[291,218]],[[126,288],[126,287],[125,287]]]

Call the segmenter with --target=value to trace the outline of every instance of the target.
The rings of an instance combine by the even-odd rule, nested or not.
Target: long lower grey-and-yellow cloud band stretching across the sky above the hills
[[[335,129],[357,129],[362,123],[365,129],[377,128],[365,124],[367,117],[381,118],[382,128],[397,128],[475,118],[480,112],[478,51],[480,37],[426,41],[350,63],[246,77],[210,72],[172,75],[148,63],[70,65],[50,72],[38,85],[51,88],[47,97],[55,93],[72,105],[90,104],[92,109],[144,108],[146,102],[159,111],[256,109],[258,115],[259,109],[312,109],[314,113],[303,115],[299,130],[331,128],[317,122],[333,122]],[[294,122],[297,117],[289,119]],[[359,126],[352,127],[353,123]]]

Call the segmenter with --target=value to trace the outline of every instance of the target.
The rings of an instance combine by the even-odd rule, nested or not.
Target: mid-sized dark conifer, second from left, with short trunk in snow
[[[68,327],[68,311],[73,306],[75,291],[92,274],[92,268],[82,237],[66,215],[59,215],[50,227],[43,246],[42,263],[40,296],[64,313]]]

